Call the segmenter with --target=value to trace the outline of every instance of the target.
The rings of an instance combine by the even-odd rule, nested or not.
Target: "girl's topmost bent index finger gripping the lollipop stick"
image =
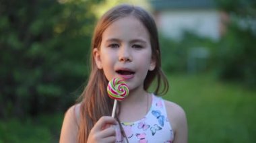
[[[96,122],[96,124],[92,128],[91,132],[101,131],[102,128],[104,128],[104,126],[106,126],[106,124],[116,125],[117,122],[114,117],[102,116],[102,117],[100,117],[100,120],[98,120],[98,122]]]

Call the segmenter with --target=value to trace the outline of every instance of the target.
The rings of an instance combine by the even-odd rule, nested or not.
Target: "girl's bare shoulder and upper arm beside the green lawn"
[[[187,117],[184,109],[171,101],[164,100],[164,105],[174,132],[174,141],[187,142]]]

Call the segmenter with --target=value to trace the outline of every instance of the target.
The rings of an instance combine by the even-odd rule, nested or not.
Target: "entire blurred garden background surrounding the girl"
[[[255,1],[0,0],[0,143],[59,142],[95,23],[119,3],[154,16],[164,99],[185,109],[189,142],[256,142]]]

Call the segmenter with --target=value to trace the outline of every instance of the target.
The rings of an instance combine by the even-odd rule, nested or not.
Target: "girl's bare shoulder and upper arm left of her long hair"
[[[67,109],[61,128],[61,143],[76,142],[79,125],[79,110],[80,104],[75,104]]]

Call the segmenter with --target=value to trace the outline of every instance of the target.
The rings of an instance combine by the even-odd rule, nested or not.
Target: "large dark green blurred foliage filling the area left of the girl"
[[[87,75],[92,7],[100,2],[0,1],[0,117],[62,111],[73,103]]]

